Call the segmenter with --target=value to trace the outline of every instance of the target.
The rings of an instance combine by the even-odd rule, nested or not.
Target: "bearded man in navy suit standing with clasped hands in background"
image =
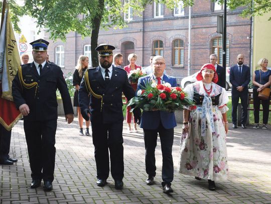
[[[230,68],[230,83],[231,88],[231,119],[232,127],[237,128],[237,106],[239,98],[241,99],[242,105],[242,119],[241,126],[246,128],[247,118],[247,101],[248,101],[248,84],[250,82],[250,69],[244,64],[244,55],[239,54],[237,56],[237,64]]]

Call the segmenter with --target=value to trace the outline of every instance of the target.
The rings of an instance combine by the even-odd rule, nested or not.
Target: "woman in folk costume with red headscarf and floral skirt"
[[[208,179],[209,189],[215,190],[215,181],[228,177],[226,134],[228,132],[228,96],[217,84],[218,76],[212,64],[202,66],[197,82],[185,88],[194,106],[183,111],[180,173]]]

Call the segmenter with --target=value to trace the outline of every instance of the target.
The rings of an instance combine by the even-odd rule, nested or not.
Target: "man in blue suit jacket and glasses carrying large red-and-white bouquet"
[[[162,56],[153,58],[152,67],[153,73],[139,79],[138,90],[144,89],[145,83],[153,80],[157,84],[168,82],[172,87],[177,86],[176,78],[164,74],[166,64]],[[159,133],[163,155],[162,186],[165,193],[173,192],[171,188],[173,180],[172,145],[174,127],[176,125],[174,112],[170,113],[158,110],[143,111],[140,127],[144,130],[146,172],[149,175],[146,184],[154,184],[154,177],[156,175],[155,148]]]

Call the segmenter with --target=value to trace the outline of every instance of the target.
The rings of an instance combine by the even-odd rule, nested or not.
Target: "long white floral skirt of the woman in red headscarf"
[[[215,132],[208,128],[210,118],[206,116],[206,136],[201,136],[201,106],[190,112],[189,133],[182,134],[180,173],[203,179],[225,180],[228,178],[226,132],[221,111],[213,106]]]

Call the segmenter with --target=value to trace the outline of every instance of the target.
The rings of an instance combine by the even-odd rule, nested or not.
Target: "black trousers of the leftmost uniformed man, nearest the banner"
[[[24,129],[33,179],[54,180],[57,119],[26,121]]]

